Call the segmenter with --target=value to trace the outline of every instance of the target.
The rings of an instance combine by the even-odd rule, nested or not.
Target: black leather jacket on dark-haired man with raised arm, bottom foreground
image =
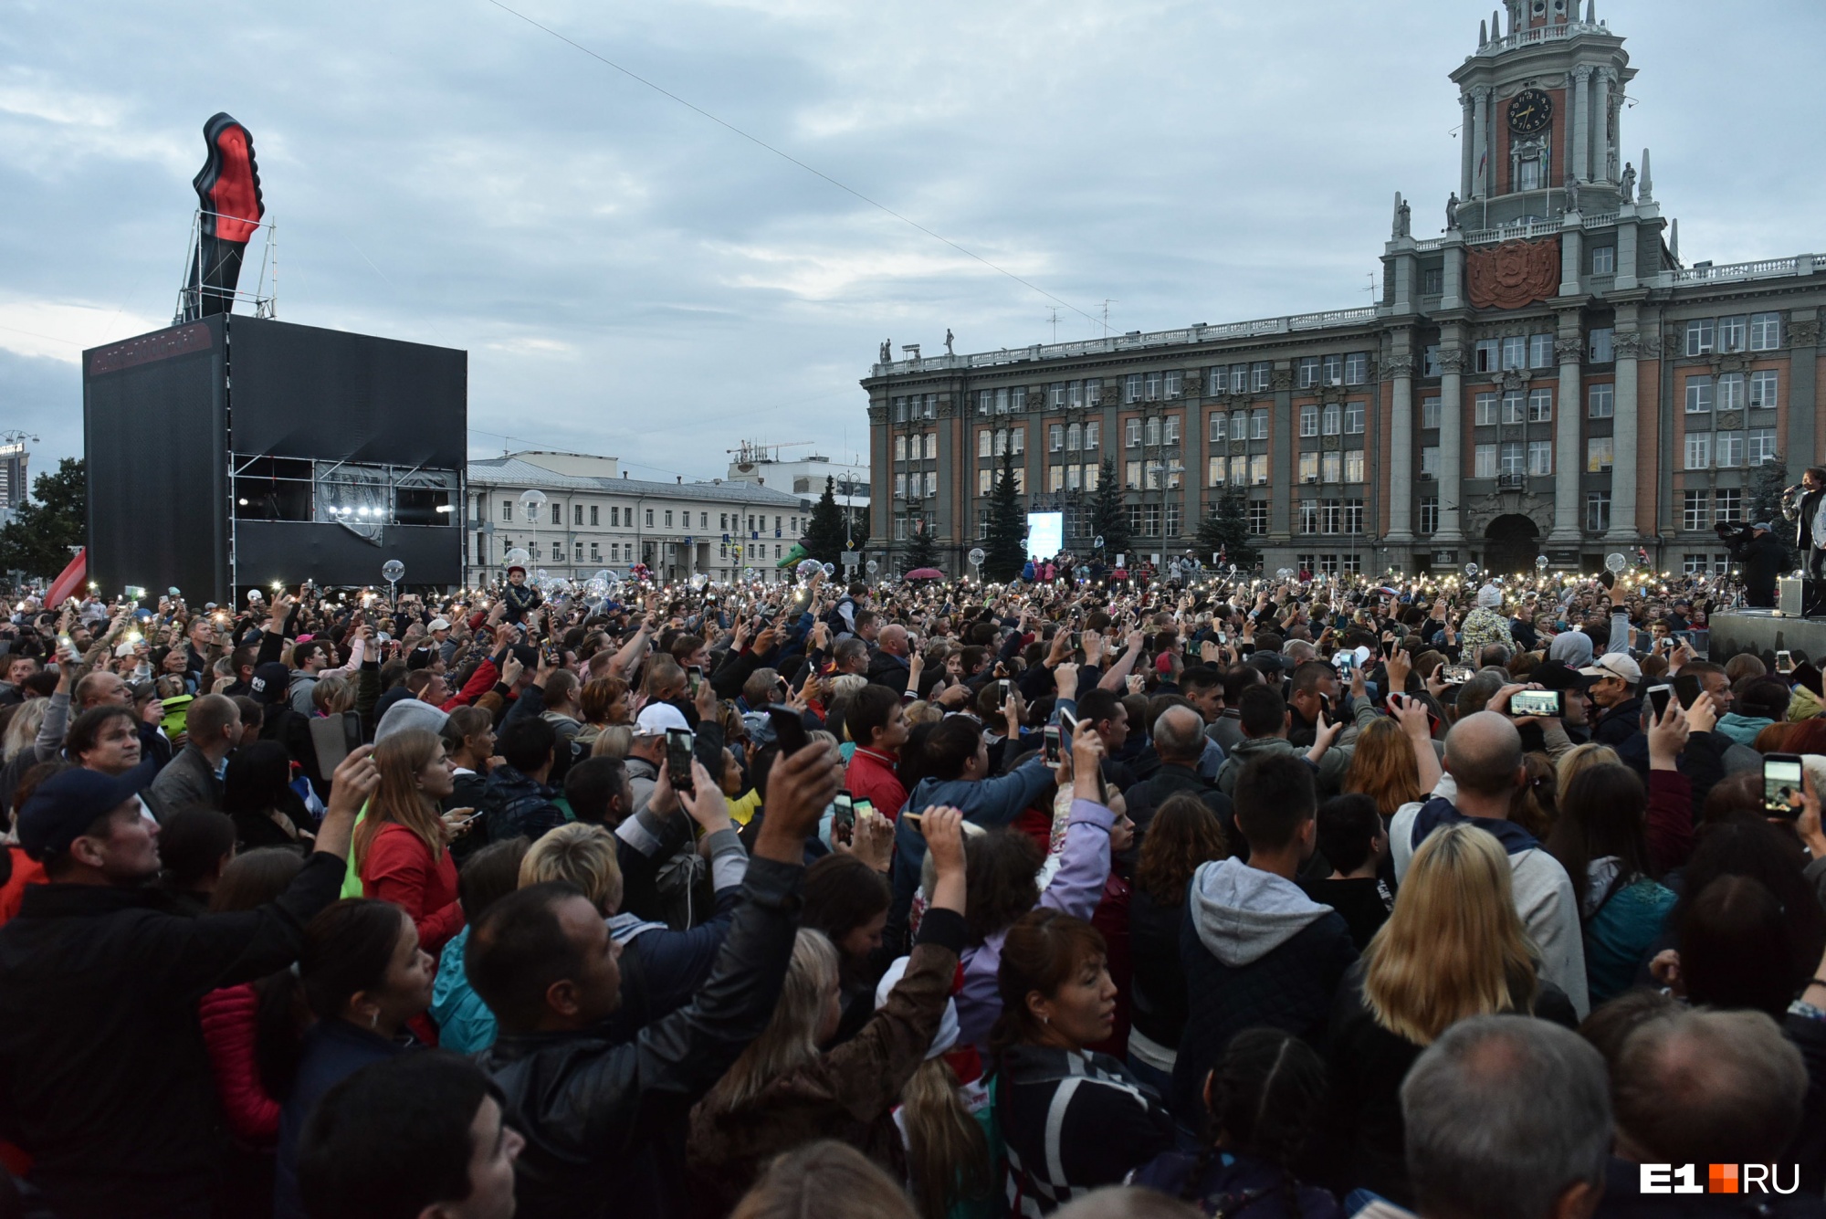
[[[774,1015],[798,932],[803,872],[750,860],[710,978],[688,1007],[635,1040],[502,1033],[477,1057],[526,1135],[515,1170],[519,1215],[687,1214],[687,1117]]]

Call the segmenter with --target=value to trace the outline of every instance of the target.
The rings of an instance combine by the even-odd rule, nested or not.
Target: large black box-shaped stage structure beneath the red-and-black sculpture
[[[236,314],[86,350],[89,578],[460,584],[467,385],[462,350]]]

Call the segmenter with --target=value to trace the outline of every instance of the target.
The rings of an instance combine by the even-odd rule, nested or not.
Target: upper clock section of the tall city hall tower
[[[1505,228],[1623,197],[1618,119],[1636,75],[1596,0],[1506,0],[1452,73],[1464,111],[1459,223]]]

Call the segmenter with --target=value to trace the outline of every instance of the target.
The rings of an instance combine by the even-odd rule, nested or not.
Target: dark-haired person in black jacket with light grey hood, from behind
[[[1256,757],[1233,799],[1249,861],[1200,865],[1180,929],[1191,1016],[1169,1108],[1191,1130],[1203,1130],[1205,1077],[1231,1038],[1265,1024],[1317,1046],[1331,996],[1357,964],[1344,918],[1293,881],[1317,843],[1313,766],[1293,754]]]

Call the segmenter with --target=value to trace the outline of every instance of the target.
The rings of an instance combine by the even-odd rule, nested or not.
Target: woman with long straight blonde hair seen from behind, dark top
[[[1475,825],[1444,825],[1413,854],[1331,1009],[1326,1159],[1337,1175],[1326,1184],[1413,1206],[1401,1082],[1450,1026],[1495,1013],[1578,1026],[1572,1002],[1539,976],[1503,845]]]

